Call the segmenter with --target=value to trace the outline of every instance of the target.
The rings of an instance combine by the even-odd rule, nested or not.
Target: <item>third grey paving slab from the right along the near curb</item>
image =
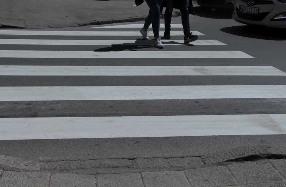
[[[188,169],[186,176],[192,186],[234,186],[238,185],[225,166]]]

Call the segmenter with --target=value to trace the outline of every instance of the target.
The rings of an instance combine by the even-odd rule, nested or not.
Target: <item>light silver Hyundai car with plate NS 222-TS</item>
[[[235,0],[232,18],[247,25],[286,28],[286,0]]]

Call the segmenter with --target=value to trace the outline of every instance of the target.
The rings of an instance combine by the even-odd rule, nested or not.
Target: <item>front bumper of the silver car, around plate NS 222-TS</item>
[[[247,13],[239,12],[240,6],[249,7],[246,2],[237,0],[235,2],[234,12],[232,14],[232,18],[240,23],[251,24],[251,25],[262,25],[267,27],[276,27],[276,28],[286,28],[286,20],[277,20],[272,21],[272,19],[281,13],[286,12],[286,4],[285,3],[275,3],[274,4],[257,4],[253,7],[259,8],[259,15],[251,15]]]

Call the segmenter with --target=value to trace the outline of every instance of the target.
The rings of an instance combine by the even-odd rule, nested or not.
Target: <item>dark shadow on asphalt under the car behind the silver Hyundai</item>
[[[232,19],[231,14],[233,9],[207,9],[204,7],[194,7],[195,15],[204,17],[204,18],[212,18],[212,19]]]

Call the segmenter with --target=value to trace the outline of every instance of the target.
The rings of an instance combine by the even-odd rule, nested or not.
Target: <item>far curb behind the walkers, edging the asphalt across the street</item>
[[[180,16],[180,11],[174,11],[172,13],[172,17]],[[127,23],[127,22],[135,22],[135,21],[144,21],[146,19],[147,15],[143,16],[135,16],[135,17],[129,17],[129,18],[119,18],[119,19],[107,19],[107,20],[91,20],[87,22],[82,23],[70,23],[70,24],[56,24],[56,25],[25,25],[24,20],[13,20],[13,23],[11,22],[5,22],[3,19],[0,18],[0,28],[63,28],[63,27],[78,27],[78,26],[88,26],[88,25],[105,25],[105,24],[112,24],[112,23]],[[164,14],[161,15],[161,18],[164,18]],[[7,18],[5,18],[7,19]]]

